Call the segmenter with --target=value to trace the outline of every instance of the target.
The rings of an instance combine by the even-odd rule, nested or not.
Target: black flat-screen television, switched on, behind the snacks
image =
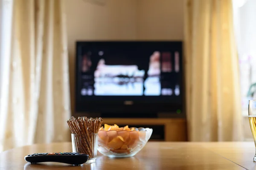
[[[183,113],[182,42],[76,42],[76,113]]]

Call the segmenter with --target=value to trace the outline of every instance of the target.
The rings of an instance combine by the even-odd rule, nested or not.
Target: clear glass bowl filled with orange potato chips
[[[135,130],[99,130],[98,151],[108,157],[130,157],[138,153],[148,142],[153,130],[137,128]]]

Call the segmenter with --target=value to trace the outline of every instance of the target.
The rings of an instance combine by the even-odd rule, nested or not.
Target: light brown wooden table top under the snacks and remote
[[[31,153],[71,152],[71,143],[34,144],[0,153],[0,170],[252,170],[253,142],[148,142],[130,158],[108,158],[98,153],[96,163],[72,166],[30,164]]]

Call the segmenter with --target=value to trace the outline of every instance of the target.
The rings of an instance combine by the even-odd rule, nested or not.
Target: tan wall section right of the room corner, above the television
[[[183,0],[138,0],[137,38],[183,40]]]

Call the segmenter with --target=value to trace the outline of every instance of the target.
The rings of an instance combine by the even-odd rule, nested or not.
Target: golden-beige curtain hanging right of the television
[[[189,141],[240,141],[239,67],[232,0],[186,0]]]

